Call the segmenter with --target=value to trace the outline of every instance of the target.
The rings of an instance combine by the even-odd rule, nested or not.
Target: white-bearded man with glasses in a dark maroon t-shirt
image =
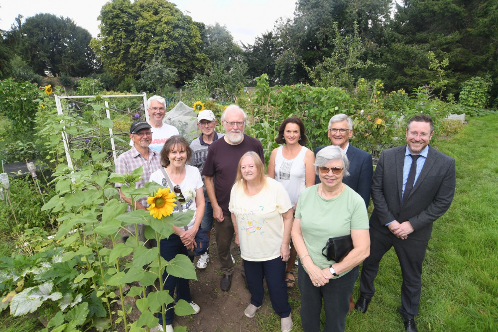
[[[234,238],[234,225],[228,204],[230,192],[237,176],[239,160],[248,151],[256,152],[264,161],[261,142],[244,134],[247,114],[237,105],[230,105],[221,116],[226,135],[214,141],[209,147],[206,163],[202,170],[206,191],[211,201],[216,225],[216,243],[221,262],[223,277],[220,283],[222,291],[228,292],[232,285],[234,262],[230,245]]]

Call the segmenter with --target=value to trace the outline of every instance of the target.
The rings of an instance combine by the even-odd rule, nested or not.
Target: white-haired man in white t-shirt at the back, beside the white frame
[[[149,113],[148,123],[152,131],[149,147],[152,150],[161,151],[162,146],[169,137],[180,133],[175,126],[163,122],[166,101],[161,96],[154,95],[147,100],[147,112]],[[133,143],[130,142],[129,145],[131,146]]]

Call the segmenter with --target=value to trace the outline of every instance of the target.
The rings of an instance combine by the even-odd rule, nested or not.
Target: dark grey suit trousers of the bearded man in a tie
[[[402,240],[394,234],[384,234],[370,228],[370,256],[362,265],[360,277],[360,293],[371,299],[375,293],[373,280],[377,276],[378,265],[382,256],[394,246],[401,266],[403,283],[401,285],[401,307],[399,313],[405,319],[418,315],[418,304],[422,290],[422,263],[429,241],[419,241],[410,238]]]

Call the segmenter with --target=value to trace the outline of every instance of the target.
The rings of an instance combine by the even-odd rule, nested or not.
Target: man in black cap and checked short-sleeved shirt
[[[135,188],[143,188],[145,182],[149,181],[150,174],[161,167],[160,152],[149,148],[152,139],[152,131],[150,129],[151,125],[146,121],[135,121],[131,123],[129,138],[131,139],[131,142],[133,142],[133,146],[128,151],[122,153],[116,161],[117,174],[129,174],[140,166],[142,167],[142,178],[135,182]],[[131,199],[124,196],[121,191],[122,186],[124,186],[122,183],[116,184],[124,202],[129,205],[128,212],[136,209],[147,209],[148,204],[146,196],[137,200],[135,202],[135,209],[132,209]],[[145,246],[150,248],[150,240],[146,242],[144,231],[145,225],[138,224],[138,240],[145,242]]]

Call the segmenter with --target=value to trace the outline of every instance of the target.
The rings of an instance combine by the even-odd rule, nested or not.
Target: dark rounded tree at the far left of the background
[[[49,70],[53,75],[86,76],[95,69],[92,36],[70,18],[36,14],[11,30],[7,41],[39,75]]]

